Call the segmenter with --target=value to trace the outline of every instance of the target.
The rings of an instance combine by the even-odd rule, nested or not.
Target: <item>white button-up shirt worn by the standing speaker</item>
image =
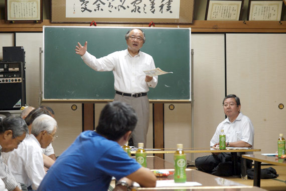
[[[152,56],[141,51],[132,57],[126,49],[98,59],[86,52],[81,58],[96,71],[112,71],[114,89],[120,92],[147,92],[149,87],[154,88],[158,83],[158,76],[154,76],[150,82],[145,81],[143,71],[155,69],[155,64]]]

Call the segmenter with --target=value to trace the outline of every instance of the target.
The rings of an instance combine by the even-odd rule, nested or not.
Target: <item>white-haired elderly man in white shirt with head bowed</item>
[[[45,176],[43,151],[54,140],[57,122],[51,116],[40,115],[32,123],[32,132],[13,154],[3,156],[16,179],[28,190],[36,190]]]

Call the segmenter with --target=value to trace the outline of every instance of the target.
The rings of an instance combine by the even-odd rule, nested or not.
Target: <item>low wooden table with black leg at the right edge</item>
[[[260,187],[261,162],[286,166],[286,160],[278,158],[276,156],[264,156],[262,154],[244,154],[242,155],[242,158],[254,160],[253,185],[258,187]]]

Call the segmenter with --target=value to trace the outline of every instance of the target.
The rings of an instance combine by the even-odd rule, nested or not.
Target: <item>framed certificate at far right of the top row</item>
[[[249,0],[248,21],[280,21],[283,1]]]

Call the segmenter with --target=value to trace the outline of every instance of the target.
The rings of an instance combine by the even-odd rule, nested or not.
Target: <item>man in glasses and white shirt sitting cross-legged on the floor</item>
[[[240,100],[234,94],[230,94],[222,102],[227,118],[221,122],[213,135],[210,146],[219,145],[219,134],[224,130],[226,145],[228,147],[253,147],[254,128],[250,119],[240,112]],[[195,160],[196,167],[204,172],[217,176],[232,176],[232,164],[230,153],[213,153],[212,155],[198,157]],[[238,157],[238,170],[240,157]],[[246,168],[251,168],[252,161],[246,160]]]

